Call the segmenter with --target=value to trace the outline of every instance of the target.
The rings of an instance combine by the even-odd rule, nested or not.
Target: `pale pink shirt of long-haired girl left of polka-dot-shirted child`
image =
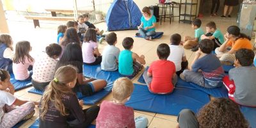
[[[28,71],[28,67],[29,65],[33,65],[33,62],[30,62],[27,58],[27,56],[25,56],[25,63],[13,63],[12,64],[12,70],[13,70],[13,74],[15,76],[15,79],[17,80],[24,80],[27,79],[29,77],[29,71]]]

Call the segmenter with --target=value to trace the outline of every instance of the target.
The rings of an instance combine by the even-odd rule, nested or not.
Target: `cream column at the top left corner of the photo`
[[[2,1],[0,0],[0,33],[9,33],[8,24],[4,15],[4,9]]]

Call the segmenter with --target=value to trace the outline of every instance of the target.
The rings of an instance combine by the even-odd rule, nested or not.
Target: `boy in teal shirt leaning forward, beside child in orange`
[[[211,21],[206,24],[206,35],[201,36],[201,40],[210,39],[214,42],[214,50],[224,43],[224,36],[219,29],[217,29],[215,22]]]

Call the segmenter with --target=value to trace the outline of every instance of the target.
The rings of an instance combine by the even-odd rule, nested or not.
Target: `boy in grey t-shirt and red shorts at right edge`
[[[256,107],[256,68],[253,66],[255,56],[251,49],[236,51],[235,67],[223,78],[228,90],[228,97],[237,104]]]

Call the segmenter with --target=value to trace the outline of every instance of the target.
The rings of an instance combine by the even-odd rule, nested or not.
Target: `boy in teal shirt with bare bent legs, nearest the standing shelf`
[[[200,28],[202,22],[200,19],[195,19],[192,21],[192,28],[195,29],[195,38],[190,36],[184,36],[184,49],[192,49],[198,45],[201,40],[201,36],[204,35],[204,31]]]

